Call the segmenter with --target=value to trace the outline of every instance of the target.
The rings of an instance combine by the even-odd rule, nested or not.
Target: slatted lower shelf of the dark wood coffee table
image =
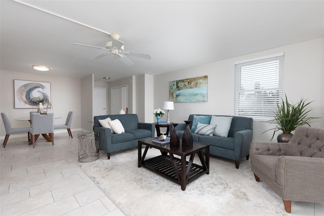
[[[179,176],[181,176],[181,159],[174,157],[174,162],[176,164],[177,171],[179,170],[178,174]],[[189,162],[186,161],[186,170],[188,169],[188,163]],[[175,166],[169,155],[160,155],[154,158],[147,159],[143,161],[141,165],[181,185],[181,180],[177,176]],[[192,163],[189,174],[186,173],[186,176],[189,176],[189,178],[186,179],[186,184],[192,182],[194,179],[205,173],[207,173],[207,170],[204,169],[203,166]]]

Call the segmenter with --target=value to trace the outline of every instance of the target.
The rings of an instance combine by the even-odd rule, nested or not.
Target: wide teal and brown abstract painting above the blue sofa
[[[173,102],[208,101],[208,76],[169,82],[169,100]]]

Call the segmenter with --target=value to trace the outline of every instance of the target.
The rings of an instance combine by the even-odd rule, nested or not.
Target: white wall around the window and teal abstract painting
[[[285,52],[284,91],[289,100],[294,103],[301,97],[314,100],[309,117],[324,116],[323,49],[323,38],[318,38],[154,76],[154,109],[169,100],[170,81],[207,75],[208,102],[175,103],[175,110],[170,111],[171,122],[181,123],[189,114],[234,115],[234,62]],[[324,128],[324,118],[315,120],[311,126]],[[273,127],[254,122],[253,139],[269,141],[272,132],[261,133]]]

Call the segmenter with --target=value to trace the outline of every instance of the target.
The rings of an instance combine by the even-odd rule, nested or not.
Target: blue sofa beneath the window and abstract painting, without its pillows
[[[211,116],[191,114],[188,121],[193,121],[193,116]],[[253,137],[253,119],[240,116],[232,116],[231,126],[228,132],[228,137],[200,135],[192,132],[193,141],[210,145],[210,154],[227,158],[235,161],[235,166],[238,169],[239,161],[246,157],[249,160],[250,145]],[[179,137],[182,138],[185,123],[178,124],[176,129]],[[192,122],[190,123],[190,128]],[[217,127],[217,126],[216,126]],[[170,134],[173,131],[173,126],[170,126]]]

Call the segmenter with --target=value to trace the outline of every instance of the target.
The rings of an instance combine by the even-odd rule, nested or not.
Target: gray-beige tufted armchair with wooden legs
[[[252,141],[251,169],[284,201],[324,202],[324,129],[299,126],[289,143]]]

